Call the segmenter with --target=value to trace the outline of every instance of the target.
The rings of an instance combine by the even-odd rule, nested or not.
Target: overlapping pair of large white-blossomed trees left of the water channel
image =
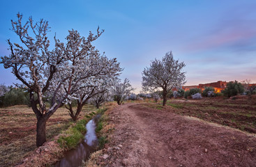
[[[99,28],[96,35],[90,31],[87,38],[72,29],[66,42],[55,35],[54,46],[50,47],[47,36],[50,26],[46,20],[34,22],[29,17],[23,23],[18,13],[17,20],[11,20],[11,24],[20,42],[7,40],[10,55],[1,57],[1,63],[12,69],[22,83],[17,86],[29,94],[37,118],[36,145],[40,146],[46,141],[46,122],[59,107],[66,106],[73,120],[77,120],[82,106],[92,97],[100,98],[114,85],[121,84],[118,77],[123,69],[116,58],[107,58],[92,45],[104,32]],[[125,81],[128,83],[128,79]]]

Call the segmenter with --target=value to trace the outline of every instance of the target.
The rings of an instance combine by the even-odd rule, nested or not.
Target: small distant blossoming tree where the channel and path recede
[[[133,91],[134,88],[130,85],[129,79],[124,79],[123,83],[121,81],[116,81],[112,88],[112,94],[114,96],[114,101],[117,102],[117,104],[121,105],[123,103],[123,100],[126,99]]]

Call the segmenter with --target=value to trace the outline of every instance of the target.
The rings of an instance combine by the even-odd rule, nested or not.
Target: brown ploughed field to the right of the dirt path
[[[204,98],[202,100],[169,100],[167,106],[161,103],[145,104],[155,109],[165,109],[183,116],[193,116],[208,122],[227,125],[256,134],[256,97],[236,97],[236,100]]]

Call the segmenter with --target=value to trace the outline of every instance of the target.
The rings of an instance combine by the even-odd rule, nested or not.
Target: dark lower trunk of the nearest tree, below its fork
[[[36,122],[36,146],[40,147],[46,141],[46,122],[44,116],[40,116]]]

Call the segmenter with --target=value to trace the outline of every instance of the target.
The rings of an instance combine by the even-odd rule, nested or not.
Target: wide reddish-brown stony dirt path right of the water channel
[[[107,166],[256,166],[256,138],[141,104],[110,113]]]

